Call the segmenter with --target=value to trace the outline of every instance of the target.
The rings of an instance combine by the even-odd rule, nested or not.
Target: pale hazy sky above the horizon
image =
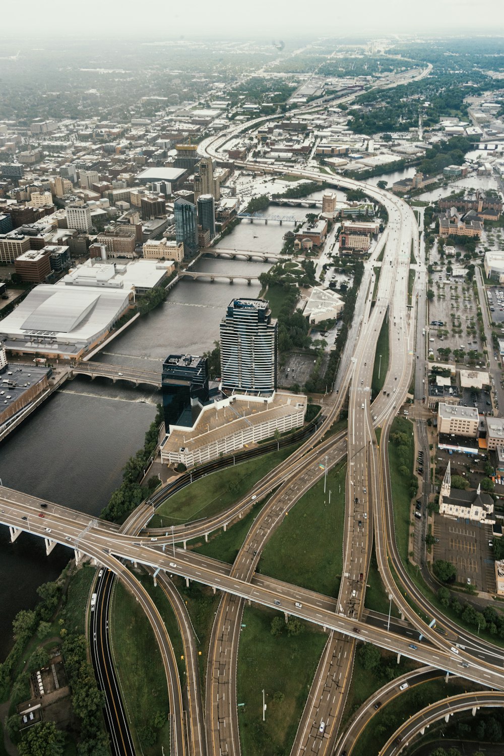
[[[504,34],[502,0],[20,0],[2,2],[0,37],[12,26],[23,34],[102,35],[110,29],[128,35],[163,37],[261,36],[282,38],[369,36],[425,32],[432,34]],[[1,54],[1,51],[0,51]]]

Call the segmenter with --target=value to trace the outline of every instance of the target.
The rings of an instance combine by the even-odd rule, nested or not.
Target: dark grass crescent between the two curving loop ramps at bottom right
[[[446,696],[454,696],[456,693],[470,689],[474,687],[471,687],[468,680],[457,680],[451,677],[447,684],[442,678],[413,684],[402,693],[397,691],[397,696],[384,704],[364,728],[352,748],[352,756],[369,756],[369,754],[378,753],[382,745],[385,745],[392,733],[410,717],[412,712],[419,711]]]

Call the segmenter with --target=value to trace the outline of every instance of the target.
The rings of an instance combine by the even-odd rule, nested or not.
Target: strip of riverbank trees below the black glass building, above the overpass
[[[128,516],[158,485],[155,477],[149,480],[147,488],[142,488],[139,481],[156,448],[158,428],[162,419],[162,407],[158,404],[156,417],[145,434],[144,448],[139,449],[134,457],[130,457],[122,468],[122,483],[113,492],[107,507],[102,510],[100,514],[102,519],[116,521]]]

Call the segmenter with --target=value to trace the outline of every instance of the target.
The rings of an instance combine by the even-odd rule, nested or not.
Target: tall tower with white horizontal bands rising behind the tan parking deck
[[[221,321],[221,381],[227,391],[277,387],[277,320],[264,299],[233,299]]]

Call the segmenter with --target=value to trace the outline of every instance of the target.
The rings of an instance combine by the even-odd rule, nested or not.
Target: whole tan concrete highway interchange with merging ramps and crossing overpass
[[[243,124],[240,125],[243,129]],[[212,156],[232,136],[209,138],[204,149]],[[246,164],[247,169],[252,166]],[[264,169],[261,169],[264,170]],[[280,171],[283,169],[279,169]],[[391,486],[388,476],[387,441],[391,421],[406,398],[416,339],[420,322],[416,322],[416,308],[407,306],[410,250],[418,261],[417,275],[425,280],[425,266],[419,260],[419,238],[416,219],[402,200],[376,187],[359,184],[341,177],[328,177],[318,171],[307,170],[303,178],[328,181],[342,188],[363,188],[366,194],[382,203],[388,212],[388,225],[382,235],[383,258],[376,302],[371,302],[373,291],[373,265],[376,265],[382,247],[376,249],[366,263],[360,286],[352,327],[338,380],[335,382],[331,401],[325,408],[326,419],[314,435],[287,460],[265,476],[249,492],[248,500],[234,508],[233,515],[224,513],[213,522],[198,522],[194,526],[165,531],[146,532],[153,508],[144,506],[128,519],[120,531],[107,522],[97,522],[82,513],[48,503],[45,518],[40,519],[40,500],[0,488],[2,505],[1,521],[10,525],[13,537],[20,531],[29,531],[46,539],[48,548],[59,542],[76,549],[76,556],[86,553],[99,565],[104,565],[116,574],[137,596],[153,626],[156,640],[162,651],[163,664],[169,681],[169,704],[172,722],[172,752],[190,754],[240,753],[237,723],[236,665],[241,615],[244,600],[270,606],[284,612],[286,617],[295,615],[318,624],[329,631],[326,649],[310,696],[301,717],[292,753],[332,753],[337,742],[339,723],[342,717],[356,641],[365,640],[385,649],[407,655],[424,665],[435,665],[443,671],[474,680],[496,690],[504,690],[502,650],[489,646],[443,618],[448,635],[440,637],[429,628],[418,612],[411,608],[410,597],[429,618],[434,612],[422,593],[412,584],[400,562],[394,538],[394,520],[391,506]],[[425,288],[423,289],[425,292]],[[419,299],[422,286],[418,287]],[[419,305],[419,313],[425,318],[425,303]],[[376,339],[382,323],[388,318],[390,338],[390,361],[385,392],[370,404],[370,386],[376,352]],[[424,321],[425,322],[425,321]],[[416,333],[415,333],[416,329]],[[345,435],[332,436],[320,442],[326,429],[338,416],[344,398],[349,391],[348,429]],[[380,426],[380,445],[376,443],[374,428]],[[264,575],[256,575],[255,569],[261,549],[271,532],[281,524],[286,513],[298,499],[324,474],[320,467],[331,467],[347,457],[348,477],[346,484],[344,571],[339,596],[334,599],[321,596]],[[277,491],[267,500],[260,515],[255,519],[236,561],[230,565],[216,562],[209,557],[188,552],[177,544],[193,538],[195,534],[208,534],[212,529],[230,522],[250,507],[252,497],[265,497]],[[141,533],[138,535],[138,533]],[[387,631],[384,627],[363,621],[363,599],[369,557],[375,542],[379,571],[394,603],[416,628],[416,643],[411,637],[397,632],[397,627]],[[189,711],[184,711],[181,684],[178,677],[172,644],[165,631],[162,618],[147,591],[131,575],[125,562],[146,565],[176,607],[181,624],[184,652],[187,661],[187,688]],[[202,711],[199,695],[199,673],[194,650],[193,632],[187,611],[180,596],[173,588],[168,575],[181,575],[188,580],[199,581],[222,592],[221,604],[215,617],[210,643],[209,665],[206,675],[206,716]],[[104,570],[98,591],[110,593],[110,572]],[[108,587],[107,587],[108,586]],[[176,595],[175,595],[176,594]],[[437,612],[438,614],[438,612]],[[107,631],[107,614],[95,616],[91,622],[93,645],[104,643]],[[424,642],[419,643],[422,634]],[[454,645],[456,643],[456,646]],[[414,646],[414,647],[413,647]],[[108,654],[102,645],[101,656]],[[192,660],[192,661],[191,661]],[[101,674],[98,672],[98,674]],[[226,695],[224,695],[224,691]],[[476,694],[473,694],[476,695]],[[491,694],[490,694],[491,695]],[[493,705],[498,696],[493,697]],[[483,695],[481,700],[483,700]],[[442,707],[441,707],[442,712]],[[439,712],[438,712],[439,713]],[[434,711],[426,714],[434,717]],[[420,720],[419,720],[420,721]],[[425,720],[422,720],[425,721]],[[320,729],[324,723],[323,731]],[[407,737],[413,730],[404,733]],[[402,736],[401,742],[406,742]],[[339,746],[345,748],[345,742]],[[127,736],[123,748],[117,752],[130,753]],[[397,743],[389,742],[383,753],[398,752]],[[402,747],[402,745],[400,746]],[[400,750],[399,747],[399,750]],[[340,752],[340,751],[337,751]]]

